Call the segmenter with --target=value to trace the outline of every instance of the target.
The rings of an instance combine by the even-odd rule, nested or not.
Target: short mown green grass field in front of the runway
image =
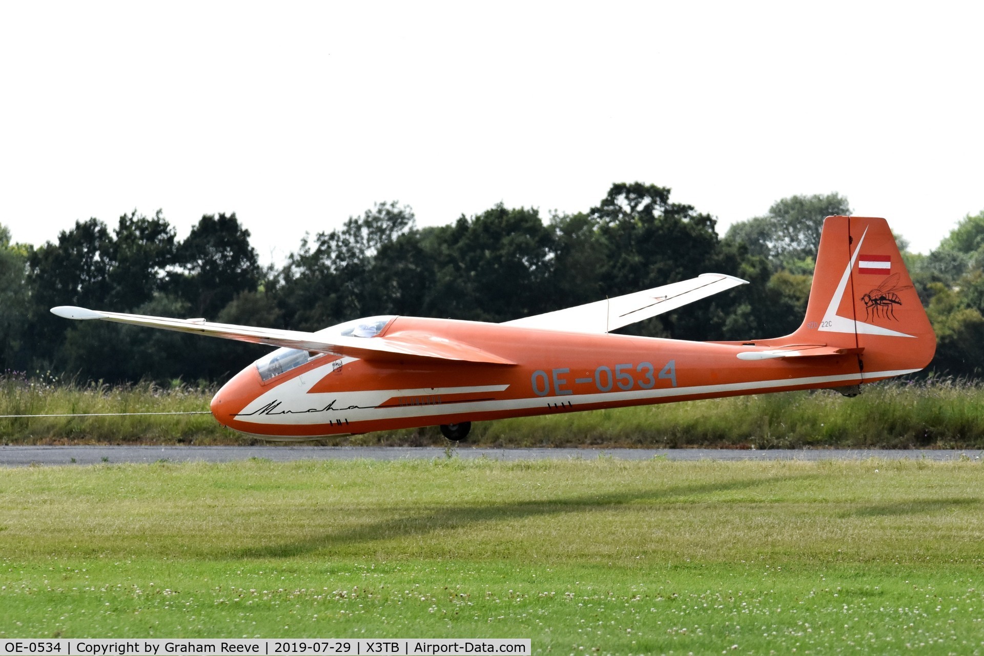
[[[0,637],[984,651],[979,461],[329,461],[0,474]]]

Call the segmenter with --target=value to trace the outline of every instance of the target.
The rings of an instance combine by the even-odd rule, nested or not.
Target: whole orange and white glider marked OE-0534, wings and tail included
[[[859,386],[919,371],[936,336],[884,218],[829,216],[810,301],[792,334],[695,342],[610,331],[743,284],[691,280],[504,324],[369,317],[304,332],[57,307],[103,320],[277,346],[212,400],[215,419],[266,439],[421,426],[769,391]]]

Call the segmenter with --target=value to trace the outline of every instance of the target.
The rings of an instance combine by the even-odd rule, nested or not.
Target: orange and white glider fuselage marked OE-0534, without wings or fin
[[[393,319],[379,336],[402,332],[464,343],[514,364],[328,354],[266,381],[251,365],[215,394],[215,418],[244,433],[304,438],[862,382],[856,354],[795,362],[738,357],[768,343],[413,317]],[[864,380],[898,373],[869,368]]]

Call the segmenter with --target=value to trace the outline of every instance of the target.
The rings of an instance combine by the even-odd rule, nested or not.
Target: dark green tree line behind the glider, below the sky
[[[750,282],[643,324],[637,334],[749,339],[786,334],[806,311],[825,216],[838,194],[794,196],[723,235],[670,190],[615,184],[596,207],[540,216],[497,205],[417,227],[385,203],[305,236],[262,267],[235,213],[208,214],[183,240],[161,211],[115,227],[91,218],[34,248],[0,225],[0,357],[7,371],[109,383],[220,381],[264,347],[105,322],[49,309],[79,305],[227,324],[317,330],[370,315],[502,322],[714,271]],[[939,337],[931,369],[976,377],[984,349],[984,211],[929,255],[903,257]]]

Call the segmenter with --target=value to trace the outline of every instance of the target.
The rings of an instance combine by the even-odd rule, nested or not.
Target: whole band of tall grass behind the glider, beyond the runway
[[[0,414],[194,412],[215,388],[175,383],[126,387],[51,377],[0,377]],[[16,444],[244,445],[261,440],[210,415],[0,419],[0,442]],[[325,445],[438,446],[437,428],[382,431]],[[617,410],[477,422],[466,445],[497,447],[984,448],[984,387],[937,379],[886,382],[846,398],[792,391]]]

